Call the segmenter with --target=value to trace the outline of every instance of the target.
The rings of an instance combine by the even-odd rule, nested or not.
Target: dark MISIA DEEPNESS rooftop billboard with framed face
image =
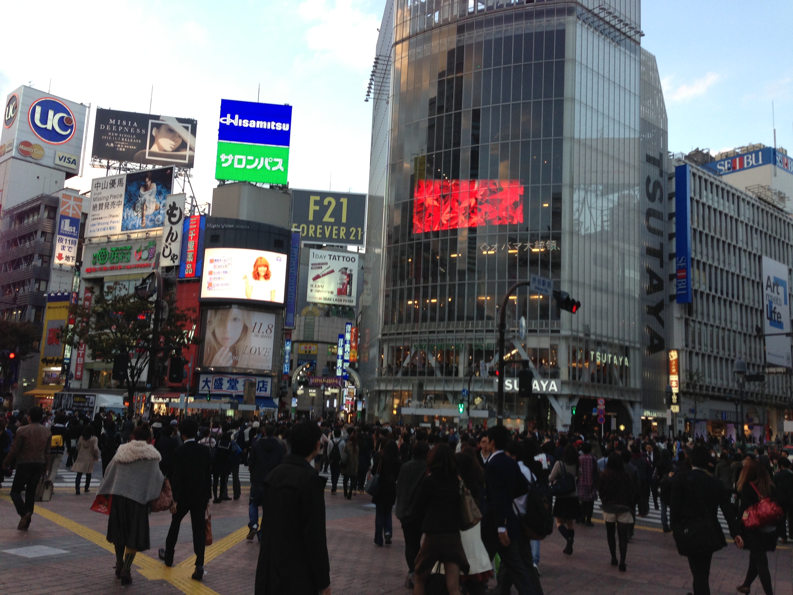
[[[197,121],[97,109],[91,156],[148,165],[193,167]]]

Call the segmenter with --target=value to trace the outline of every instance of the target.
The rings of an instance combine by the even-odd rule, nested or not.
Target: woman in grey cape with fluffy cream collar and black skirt
[[[101,495],[113,496],[107,540],[116,549],[116,578],[121,578],[121,585],[132,582],[136,553],[150,547],[150,503],[159,497],[165,481],[159,470],[161,457],[149,440],[151,430],[147,424],[135,428],[132,440],[118,447],[97,489]]]

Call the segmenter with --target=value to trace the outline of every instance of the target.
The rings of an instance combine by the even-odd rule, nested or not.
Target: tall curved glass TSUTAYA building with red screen
[[[377,42],[367,413],[440,420],[470,389],[472,415],[495,417],[500,303],[536,274],[582,307],[508,301],[504,417],[525,415],[528,362],[541,427],[596,431],[603,399],[606,429],[662,430],[666,112],[639,0],[430,6],[389,0]]]

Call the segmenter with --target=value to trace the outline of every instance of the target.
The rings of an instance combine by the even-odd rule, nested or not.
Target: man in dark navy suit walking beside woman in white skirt
[[[511,585],[519,595],[535,595],[538,578],[531,564],[531,548],[521,531],[518,516],[512,508],[516,497],[528,492],[529,482],[517,461],[504,452],[509,430],[503,425],[488,429],[488,455],[485,459],[485,512],[482,516],[482,542],[488,554],[498,552],[507,576],[502,576],[501,593],[509,593]],[[485,449],[482,449],[485,451]]]

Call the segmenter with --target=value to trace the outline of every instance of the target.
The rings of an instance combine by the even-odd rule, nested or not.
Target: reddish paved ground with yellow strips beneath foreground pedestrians
[[[157,547],[165,542],[170,515],[151,515],[151,550],[136,557],[134,582],[121,589],[113,575],[114,557],[104,536],[107,517],[90,512],[94,494],[75,496],[71,489],[56,489],[51,502],[36,505],[38,514],[28,532],[18,532],[17,515],[8,501],[9,484],[0,489],[0,595],[11,593],[124,593],[141,595],[193,593],[201,595],[250,595],[253,592],[259,547],[244,539],[247,530],[247,488],[239,501],[213,505],[215,544],[208,548],[204,582],[191,581],[193,555],[190,522],[182,523],[175,562],[181,567],[166,569],[157,560]],[[331,557],[333,593],[409,593],[404,589],[407,566],[399,522],[394,518],[391,547],[374,547],[374,507],[370,498],[356,496],[347,501],[342,494],[326,492],[328,550]],[[276,511],[269,511],[276,514]],[[641,523],[640,523],[641,525]],[[44,546],[55,551],[26,558],[6,550]],[[602,523],[594,528],[577,525],[575,553],[561,553],[561,537],[554,533],[542,542],[542,586],[546,595],[576,593],[652,593],[684,595],[691,590],[685,559],[677,555],[672,536],[650,522],[639,526],[628,547],[626,573],[609,564],[606,532]],[[23,551],[21,553],[29,553]],[[749,555],[730,547],[714,556],[711,592],[734,593],[748,566]],[[778,595],[793,595],[793,565],[790,546],[780,546],[769,555],[772,578]],[[515,591],[513,591],[515,593]],[[753,593],[762,593],[759,583]]]

